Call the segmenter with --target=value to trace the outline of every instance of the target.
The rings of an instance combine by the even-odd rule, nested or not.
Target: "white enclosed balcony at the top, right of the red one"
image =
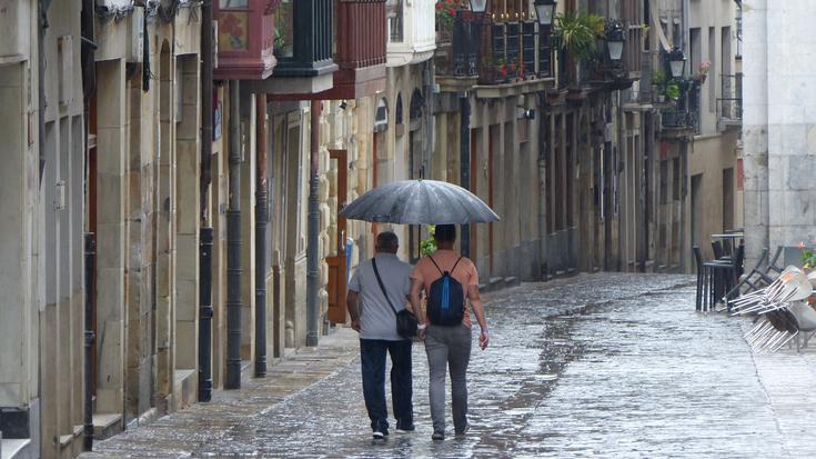
[[[387,66],[431,59],[436,49],[435,0],[387,0]]]

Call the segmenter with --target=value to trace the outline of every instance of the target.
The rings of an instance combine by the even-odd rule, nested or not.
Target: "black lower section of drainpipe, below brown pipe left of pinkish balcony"
[[[199,241],[199,401],[212,400],[212,227]]]

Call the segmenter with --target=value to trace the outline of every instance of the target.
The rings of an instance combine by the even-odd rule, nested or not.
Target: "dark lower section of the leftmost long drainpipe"
[[[93,448],[93,262],[97,257],[97,242],[92,232],[85,232],[85,365],[84,365],[84,411],[82,447],[85,451]]]

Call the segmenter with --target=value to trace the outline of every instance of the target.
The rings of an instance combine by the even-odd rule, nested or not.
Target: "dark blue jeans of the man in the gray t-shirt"
[[[391,397],[396,428],[409,427],[414,421],[411,340],[361,339],[360,358],[363,368],[363,397],[365,398],[365,409],[369,410],[372,430],[387,430],[389,428],[389,411],[385,406],[386,351],[391,355]]]

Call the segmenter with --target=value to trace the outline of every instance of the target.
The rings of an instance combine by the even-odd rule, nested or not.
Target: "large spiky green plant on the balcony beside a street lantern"
[[[565,51],[568,81],[578,82],[578,66],[597,52],[597,41],[604,36],[604,19],[581,11],[561,13],[555,17],[552,43]]]

